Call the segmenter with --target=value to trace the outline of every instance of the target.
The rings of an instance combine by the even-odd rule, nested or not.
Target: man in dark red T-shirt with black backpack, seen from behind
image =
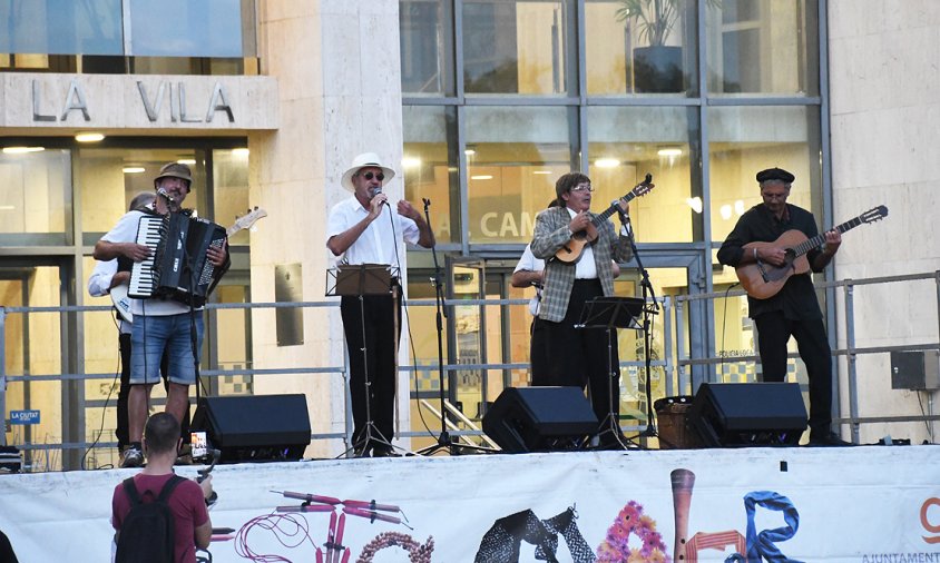
[[[208,547],[212,475],[200,483],[175,475],[179,443],[176,417],[157,413],[147,419],[141,443],[147,465],[118,484],[111,498],[116,562],[195,563],[196,549]]]

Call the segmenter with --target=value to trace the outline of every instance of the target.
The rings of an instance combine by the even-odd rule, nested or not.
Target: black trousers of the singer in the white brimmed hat
[[[350,354],[350,398],[353,409],[353,443],[365,435],[369,414],[380,436],[391,442],[395,416],[395,355],[401,335],[401,290],[392,295],[343,296],[340,313]],[[363,324],[364,322],[364,324]],[[363,336],[365,339],[363,340]],[[366,393],[366,375],[369,392]],[[371,447],[373,444],[365,444]]]

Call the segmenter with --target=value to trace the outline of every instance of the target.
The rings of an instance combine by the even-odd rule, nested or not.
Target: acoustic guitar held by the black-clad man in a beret
[[[888,208],[882,205],[829,230],[838,230],[842,234],[863,223],[874,223],[885,217],[888,217]],[[782,266],[773,266],[760,260],[738,266],[735,268],[737,279],[741,280],[742,287],[751,297],[770,299],[781,290],[790,276],[810,271],[810,260],[806,258],[806,253],[813,248],[819,248],[823,243],[825,243],[824,233],[813,238],[806,238],[806,235],[796,229],[787,230],[773,243],[748,243],[743,247],[745,253],[753,251],[752,248],[784,247],[786,248],[786,258]]]

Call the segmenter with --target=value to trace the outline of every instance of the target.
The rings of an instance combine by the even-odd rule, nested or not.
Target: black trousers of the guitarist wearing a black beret
[[[786,378],[786,343],[791,336],[796,338],[810,379],[810,435],[828,435],[832,426],[832,348],[822,319],[791,320],[783,312],[771,312],[758,315],[754,325],[765,382]]]

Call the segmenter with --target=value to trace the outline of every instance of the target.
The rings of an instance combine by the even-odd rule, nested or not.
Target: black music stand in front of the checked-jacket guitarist
[[[614,414],[614,340],[617,328],[630,328],[642,330],[637,323],[637,316],[643,313],[644,300],[638,297],[595,297],[585,303],[581,310],[581,319],[578,323],[580,328],[604,328],[607,332],[607,416],[604,417],[598,428],[603,428],[597,435],[604,436],[608,432],[614,434],[614,439],[627,450],[627,444],[620,432],[620,424],[617,415]],[[613,330],[611,330],[613,329]],[[619,366],[616,366],[619,369]]]

